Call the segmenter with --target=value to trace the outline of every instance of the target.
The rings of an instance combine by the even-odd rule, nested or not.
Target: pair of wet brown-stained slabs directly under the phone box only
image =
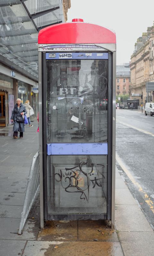
[[[47,221],[38,235],[43,241],[118,241],[116,231],[102,220]]]

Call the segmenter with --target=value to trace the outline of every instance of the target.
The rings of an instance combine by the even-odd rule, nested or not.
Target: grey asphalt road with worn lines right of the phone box
[[[116,110],[116,166],[154,229],[154,116]]]

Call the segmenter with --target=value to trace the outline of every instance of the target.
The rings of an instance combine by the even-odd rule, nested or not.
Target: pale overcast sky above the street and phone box
[[[153,0],[71,0],[68,20],[82,18],[84,22],[97,24],[116,32],[117,61],[128,63],[137,38],[153,26]],[[87,31],[88,33],[88,31]]]

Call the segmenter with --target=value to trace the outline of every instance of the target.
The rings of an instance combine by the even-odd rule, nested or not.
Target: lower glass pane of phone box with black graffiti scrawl
[[[48,214],[107,213],[107,156],[48,156],[47,180]]]

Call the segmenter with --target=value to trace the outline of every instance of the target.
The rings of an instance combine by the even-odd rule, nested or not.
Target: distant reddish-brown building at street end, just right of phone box
[[[129,63],[116,66],[116,96],[129,94],[131,84]]]

